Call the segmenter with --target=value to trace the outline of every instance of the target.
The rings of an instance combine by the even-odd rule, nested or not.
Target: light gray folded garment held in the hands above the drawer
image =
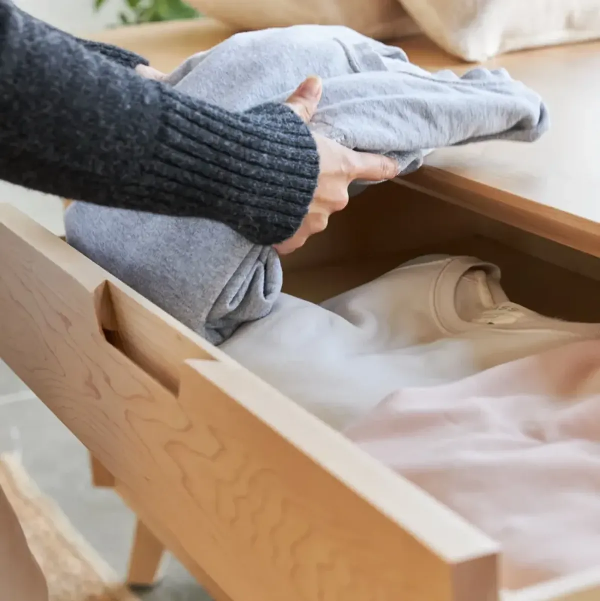
[[[311,74],[323,78],[311,129],[349,148],[391,154],[400,161],[400,174],[418,169],[429,148],[491,139],[533,142],[549,126],[539,95],[506,70],[432,75],[411,64],[403,50],[345,27],[234,35],[189,58],[170,82],[229,111],[245,111],[283,102]]]

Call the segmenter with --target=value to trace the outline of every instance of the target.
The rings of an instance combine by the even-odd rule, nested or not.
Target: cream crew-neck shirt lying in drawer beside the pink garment
[[[399,388],[452,382],[599,333],[510,303],[490,263],[439,255],[322,305],[283,294],[221,348],[343,429]]]

